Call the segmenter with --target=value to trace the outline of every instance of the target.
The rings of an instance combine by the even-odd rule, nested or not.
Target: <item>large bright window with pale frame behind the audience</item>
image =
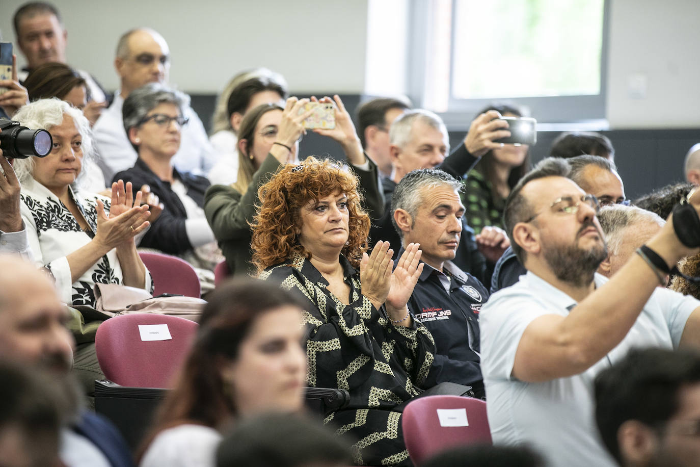
[[[602,119],[606,8],[604,0],[415,0],[409,95],[452,127],[491,102],[526,106],[545,123]]]

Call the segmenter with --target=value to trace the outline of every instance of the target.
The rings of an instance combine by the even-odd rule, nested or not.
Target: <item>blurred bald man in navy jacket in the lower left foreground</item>
[[[0,255],[0,359],[48,370],[75,396],[74,416],[61,431],[62,462],[66,467],[132,466],[116,428],[81,407],[70,373],[73,337],[66,328],[68,320],[48,274],[17,256]]]

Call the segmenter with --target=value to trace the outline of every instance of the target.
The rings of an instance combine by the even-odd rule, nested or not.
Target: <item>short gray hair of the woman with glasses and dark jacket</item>
[[[124,99],[122,106],[122,120],[124,122],[124,130],[129,137],[129,130],[138,127],[143,123],[146,114],[152,111],[160,104],[174,104],[183,115],[185,109],[190,106],[190,97],[183,92],[168,88],[160,83],[148,83],[141,88],[133,90],[130,95]],[[138,148],[134,149],[137,150]]]

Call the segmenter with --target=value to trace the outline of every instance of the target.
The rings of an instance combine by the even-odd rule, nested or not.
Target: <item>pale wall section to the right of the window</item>
[[[700,127],[700,1],[610,1],[610,127]]]

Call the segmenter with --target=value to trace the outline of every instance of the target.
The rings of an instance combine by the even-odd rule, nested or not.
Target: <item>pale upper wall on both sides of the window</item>
[[[365,92],[367,4],[389,0],[55,0],[69,30],[69,62],[118,81],[112,61],[118,36],[141,25],[158,29],[172,50],[172,83],[215,94],[238,71],[267,66],[295,92]],[[397,5],[409,0],[391,0]],[[414,0],[424,1],[424,0]],[[613,129],[700,127],[700,1],[609,0],[606,113]],[[0,30],[13,41],[3,0]],[[393,22],[401,15],[387,19]],[[396,39],[397,41],[399,39]],[[402,50],[393,43],[371,50]],[[20,56],[20,64],[23,59]],[[390,78],[389,76],[387,78]],[[393,79],[397,79],[395,76]],[[645,97],[630,94],[642,84]],[[643,85],[645,83],[645,86]],[[404,92],[396,83],[396,92]]]

